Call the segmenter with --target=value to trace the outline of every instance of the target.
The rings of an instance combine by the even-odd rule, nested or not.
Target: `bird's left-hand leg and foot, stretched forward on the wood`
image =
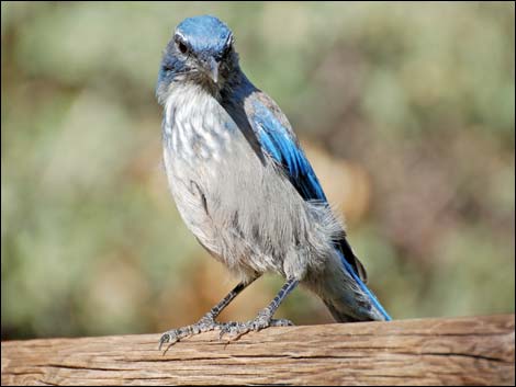
[[[164,334],[161,334],[161,339],[159,339],[159,350],[161,349],[162,344],[178,342],[181,339],[188,338],[190,335],[199,334],[201,332],[207,332],[215,329],[221,329],[222,325],[215,321],[215,318],[224,310],[224,308],[229,305],[229,303],[242,292],[244,291],[254,280],[250,282],[240,282],[238,285],[235,286],[233,291],[231,291],[227,296],[224,297],[217,305],[210,309],[207,314],[205,314],[198,322],[178,328],[171,329]]]

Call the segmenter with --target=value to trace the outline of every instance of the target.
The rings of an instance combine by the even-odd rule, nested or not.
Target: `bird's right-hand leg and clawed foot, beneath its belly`
[[[274,299],[265,309],[261,309],[254,320],[247,322],[226,322],[221,325],[220,338],[222,339],[224,334],[229,334],[233,339],[237,339],[249,331],[259,331],[260,329],[268,327],[293,326],[290,320],[273,319],[272,316],[287,295],[294,289],[298,283],[298,280],[288,280],[278,292]]]

